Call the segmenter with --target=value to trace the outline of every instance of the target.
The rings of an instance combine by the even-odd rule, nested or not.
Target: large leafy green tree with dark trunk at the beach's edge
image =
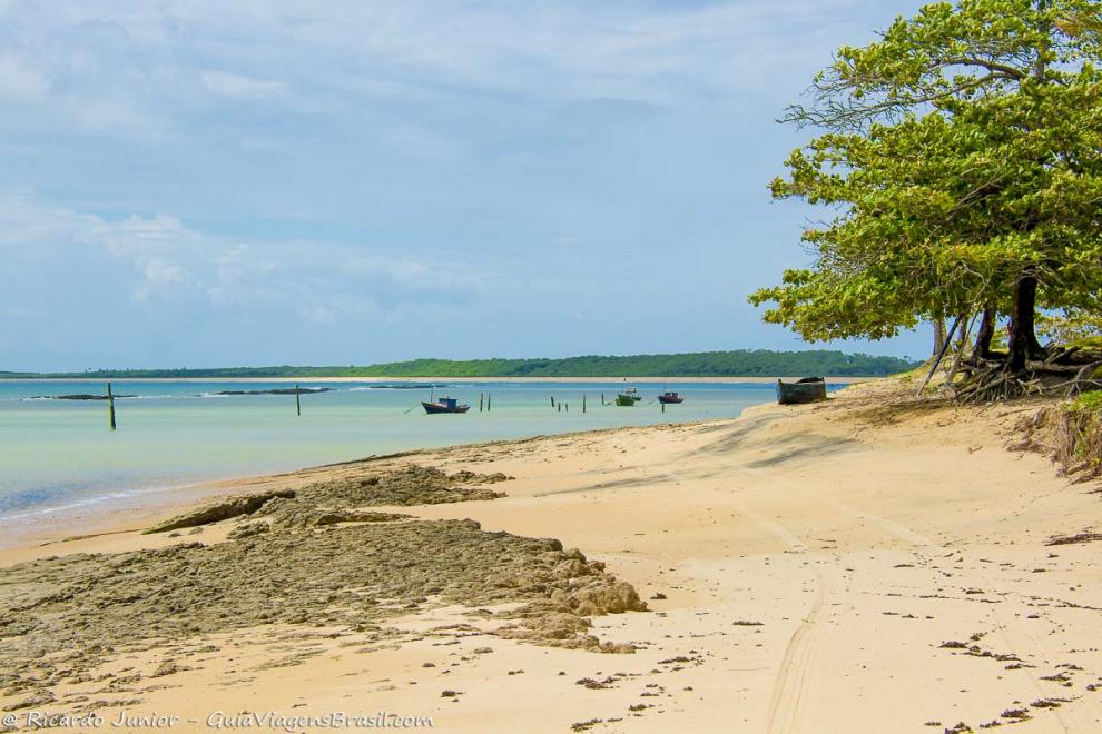
[[[1102,284],[1102,3],[962,0],[844,47],[785,121],[823,131],[776,198],[834,209],[809,268],[751,295],[809,340],[883,338],[983,313],[990,357],[1042,356],[1039,308],[1088,307]]]

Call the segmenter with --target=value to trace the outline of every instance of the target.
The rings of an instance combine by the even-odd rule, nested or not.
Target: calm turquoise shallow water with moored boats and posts
[[[118,430],[108,429],[105,401],[49,399],[102,394],[102,383],[0,383],[0,520],[59,509],[108,506],[141,493],[226,476],[297,469],[417,447],[540,434],[732,418],[774,399],[771,385],[670,385],[685,396],[662,414],[660,385],[638,385],[634,407],[611,401],[618,383],[480,383],[442,385],[470,404],[466,415],[425,415],[429,389],[380,383],[302,383],[332,391],[303,395],[217,396],[222,390],[293,387],[287,383],[115,383]],[[479,413],[479,395],[492,409]],[[587,413],[582,414],[582,395]],[[550,396],[569,404],[552,410]]]

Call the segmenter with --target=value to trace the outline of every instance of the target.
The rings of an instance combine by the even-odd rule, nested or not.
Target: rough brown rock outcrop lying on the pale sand
[[[391,618],[455,605],[500,623],[491,634],[503,638],[632,652],[590,634],[588,617],[642,611],[645,603],[581,552],[554,539],[489,533],[470,519],[364,509],[494,499],[502,493],[484,485],[508,478],[401,466],[232,497],[149,530],[230,525],[213,545],[181,542],[8,567],[0,583],[0,694],[50,695],[65,704],[69,684],[94,680],[102,663],[122,655],[288,625],[368,644],[401,635],[386,626]],[[505,611],[488,611],[498,605]]]

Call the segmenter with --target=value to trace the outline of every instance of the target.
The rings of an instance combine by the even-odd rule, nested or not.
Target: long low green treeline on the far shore
[[[698,351],[565,359],[413,359],[362,367],[216,367],[209,369],[97,369],[82,373],[6,373],[0,377],[879,377],[914,368],[897,357],[842,351]]]

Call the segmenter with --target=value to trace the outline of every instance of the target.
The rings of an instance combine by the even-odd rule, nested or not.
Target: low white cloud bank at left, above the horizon
[[[189,309],[258,313],[282,305],[314,323],[336,323],[346,314],[385,319],[411,306],[452,302],[456,294],[478,291],[471,285],[475,272],[490,272],[442,251],[246,242],[197,231],[165,214],[111,220],[48,206],[28,192],[0,196],[0,220],[7,225],[0,230],[0,250],[9,261],[22,260],[23,281],[48,287],[45,284],[66,275],[68,262],[109,260],[129,271],[109,284],[110,289],[129,292],[135,301],[158,298],[165,306],[176,299]],[[75,287],[95,290],[96,284],[80,281]],[[166,321],[171,317],[166,310]]]

